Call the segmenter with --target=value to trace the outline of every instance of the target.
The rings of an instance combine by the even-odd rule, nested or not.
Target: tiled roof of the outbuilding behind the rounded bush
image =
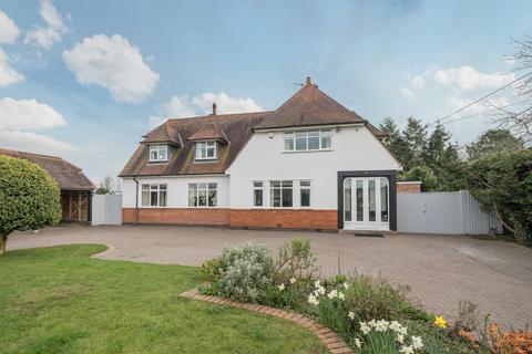
[[[0,148],[0,155],[23,158],[47,170],[61,189],[92,190],[94,185],[83,175],[81,168],[58,156],[38,155],[24,152]]]

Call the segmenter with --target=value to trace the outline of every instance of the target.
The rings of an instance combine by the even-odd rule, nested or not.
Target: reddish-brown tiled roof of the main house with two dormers
[[[319,126],[339,124],[368,124],[376,137],[381,132],[366,119],[321,92],[317,85],[307,84],[278,110],[243,114],[211,114],[207,116],[168,119],[153,129],[142,143],[176,142],[178,147],[167,163],[149,164],[149,146],[141,144],[130,158],[121,177],[156,175],[223,174],[235,160],[255,129]],[[222,140],[218,158],[214,162],[195,162],[194,142]]]

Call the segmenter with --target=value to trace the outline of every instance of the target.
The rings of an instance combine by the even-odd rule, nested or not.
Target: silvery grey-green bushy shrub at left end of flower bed
[[[274,261],[269,248],[246,243],[226,248],[219,262],[219,291],[224,296],[247,302],[264,302],[273,283]]]

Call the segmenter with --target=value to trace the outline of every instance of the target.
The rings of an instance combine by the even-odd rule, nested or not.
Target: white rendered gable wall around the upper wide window
[[[331,150],[290,153],[283,152],[284,132],[255,133],[227,170],[231,208],[252,208],[254,180],[305,179],[311,180],[311,209],[337,209],[337,171],[400,168],[366,127],[345,126],[332,132]],[[299,192],[295,189],[294,206],[298,208]],[[264,199],[267,208],[267,189]]]

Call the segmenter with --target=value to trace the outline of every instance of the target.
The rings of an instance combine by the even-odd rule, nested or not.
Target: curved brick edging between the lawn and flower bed
[[[237,309],[244,309],[248,311],[254,311],[263,314],[267,314],[274,317],[283,319],[299,324],[300,326],[306,327],[324,343],[324,345],[332,354],[351,354],[354,353],[351,348],[340,339],[335,332],[330,331],[323,324],[317,323],[313,319],[306,317],[299,313],[291,311],[279,310],[275,308],[269,308],[265,305],[257,305],[245,302],[236,302],[224,298],[202,295],[197,289],[185,291],[180,294],[180,296],[195,299],[200,301],[211,302],[218,305],[233,306]]]

